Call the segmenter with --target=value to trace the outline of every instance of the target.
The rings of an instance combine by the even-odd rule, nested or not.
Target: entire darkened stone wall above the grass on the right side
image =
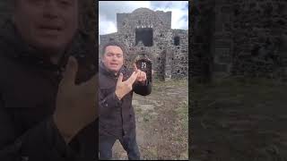
[[[191,74],[207,80],[229,75],[286,80],[286,4],[280,0],[195,1]]]

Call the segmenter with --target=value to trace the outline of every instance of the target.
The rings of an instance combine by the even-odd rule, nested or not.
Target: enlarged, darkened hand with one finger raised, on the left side
[[[78,63],[73,56],[69,57],[63,79],[57,91],[56,111],[53,115],[58,130],[69,142],[86,125],[98,117],[98,78],[75,84]]]

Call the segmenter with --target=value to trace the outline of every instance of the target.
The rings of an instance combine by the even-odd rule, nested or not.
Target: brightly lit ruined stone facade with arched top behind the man
[[[138,8],[132,13],[117,13],[117,32],[100,35],[100,48],[110,40],[124,45],[127,66],[138,55],[145,55],[152,61],[156,78],[187,78],[188,32],[171,29],[171,12]]]

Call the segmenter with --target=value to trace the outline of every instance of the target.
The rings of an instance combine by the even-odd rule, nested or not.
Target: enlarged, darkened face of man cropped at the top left
[[[78,28],[77,0],[16,0],[14,22],[32,47],[61,50]]]

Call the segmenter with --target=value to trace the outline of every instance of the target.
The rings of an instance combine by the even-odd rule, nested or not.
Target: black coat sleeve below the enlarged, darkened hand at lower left
[[[20,135],[14,127],[12,117],[0,105],[0,160],[81,160],[78,153],[65,143],[51,117]]]

